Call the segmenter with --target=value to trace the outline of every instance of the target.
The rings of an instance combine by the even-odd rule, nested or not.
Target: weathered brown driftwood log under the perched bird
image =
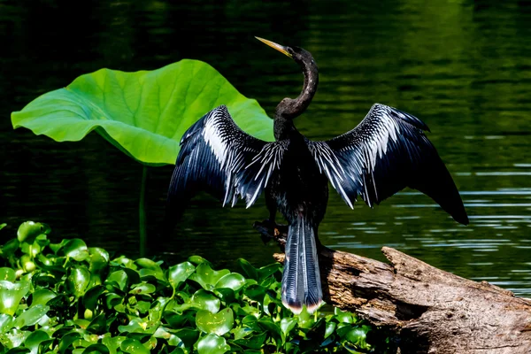
[[[285,244],[286,227],[266,222],[255,227]],[[444,272],[389,247],[382,252],[389,264],[321,246],[327,304],[391,329],[401,354],[531,353],[531,299]],[[273,257],[284,260],[284,254]]]

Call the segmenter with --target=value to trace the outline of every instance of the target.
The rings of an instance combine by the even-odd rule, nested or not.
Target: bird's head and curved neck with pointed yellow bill
[[[295,99],[284,98],[276,107],[275,119],[294,119],[306,110],[312,102],[319,83],[319,71],[312,54],[299,47],[285,47],[281,44],[256,37],[258,41],[265,42],[268,46],[287,55],[301,66],[304,73],[304,86],[301,94]]]

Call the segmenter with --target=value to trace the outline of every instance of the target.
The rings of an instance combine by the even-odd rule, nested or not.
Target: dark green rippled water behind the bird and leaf
[[[272,113],[302,75],[259,35],[304,47],[319,64],[317,96],[296,121],[305,135],[342,134],[374,102],[411,112],[431,128],[471,219],[462,227],[412,190],[355,211],[333,192],[321,242],[378,259],[381,246],[395,247],[531,296],[531,3],[476,3],[0,0],[0,219],[11,227],[0,235],[35,219],[58,237],[135,256],[142,167],[96,134],[58,143],[12,131],[10,113],[81,73],[181,58],[212,64]],[[150,233],[171,173],[150,169]],[[266,215],[262,199],[231,210],[202,196],[165,249],[175,260],[266,264],[278,249],[250,227]]]

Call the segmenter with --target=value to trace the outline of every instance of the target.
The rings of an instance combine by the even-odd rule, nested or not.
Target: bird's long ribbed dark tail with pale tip
[[[304,217],[299,217],[288,227],[282,303],[296,314],[303,311],[303,305],[312,313],[322,299],[314,229]]]

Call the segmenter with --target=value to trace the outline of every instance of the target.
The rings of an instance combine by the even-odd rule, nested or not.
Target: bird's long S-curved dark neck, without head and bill
[[[303,69],[304,86],[298,97],[284,98],[277,105],[274,112],[274,135],[277,140],[286,138],[290,131],[296,130],[293,119],[308,108],[319,83],[318,68],[310,53],[296,62]]]

